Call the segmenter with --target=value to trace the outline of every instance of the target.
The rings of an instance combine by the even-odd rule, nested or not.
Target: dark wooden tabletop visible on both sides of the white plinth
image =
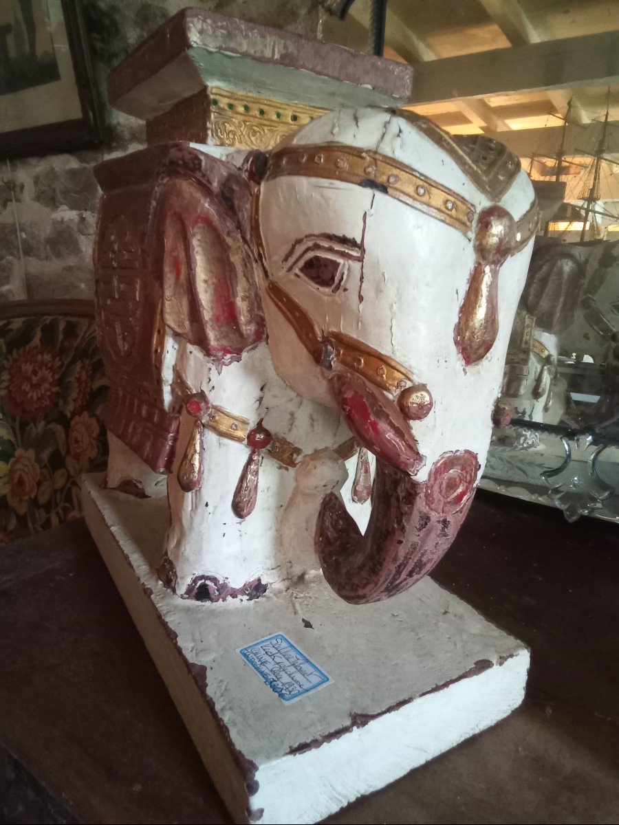
[[[530,646],[527,699],[329,822],[616,823],[617,527],[480,492],[433,577]],[[0,628],[3,821],[229,822],[83,521],[0,551]]]

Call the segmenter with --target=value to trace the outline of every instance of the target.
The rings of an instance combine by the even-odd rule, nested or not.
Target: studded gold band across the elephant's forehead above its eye
[[[461,233],[469,233],[475,209],[456,192],[404,163],[353,146],[287,146],[272,153],[265,180],[284,175],[319,177],[376,186],[396,200],[422,210]]]

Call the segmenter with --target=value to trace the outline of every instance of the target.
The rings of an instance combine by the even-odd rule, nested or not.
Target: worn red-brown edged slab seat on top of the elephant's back
[[[309,106],[402,106],[409,101],[408,64],[186,8],[114,68],[111,106],[149,120],[205,86],[218,86]]]

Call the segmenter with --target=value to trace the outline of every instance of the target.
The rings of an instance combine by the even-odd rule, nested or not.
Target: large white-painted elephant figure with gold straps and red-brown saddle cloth
[[[167,477],[163,582],[198,601],[321,574],[355,604],[411,587],[489,446],[537,225],[517,158],[351,109],[268,156],[162,144],[97,179],[107,485]]]

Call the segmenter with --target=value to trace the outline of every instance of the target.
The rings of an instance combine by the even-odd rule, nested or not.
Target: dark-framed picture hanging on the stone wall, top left
[[[79,0],[0,0],[0,158],[101,140]]]

